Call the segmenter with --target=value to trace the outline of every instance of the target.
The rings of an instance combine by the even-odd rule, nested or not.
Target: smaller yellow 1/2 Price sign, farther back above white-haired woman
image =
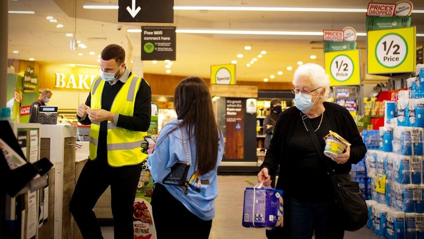
[[[325,53],[325,70],[330,75],[330,85],[359,85],[361,70],[359,50]]]

